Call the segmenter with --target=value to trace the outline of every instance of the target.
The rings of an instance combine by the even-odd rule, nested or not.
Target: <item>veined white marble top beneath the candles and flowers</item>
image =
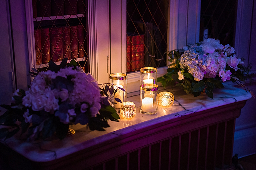
[[[30,143],[26,142],[25,139],[20,139],[18,137],[19,135],[17,135],[1,142],[24,157],[27,157],[29,160],[46,162],[167,119],[174,119],[183,115],[189,115],[251,98],[250,93],[227,85],[223,89],[214,89],[214,100],[207,97],[206,94],[193,97],[191,94],[187,95],[181,89],[169,89],[167,91],[173,93],[175,101],[172,106],[167,108],[158,106],[158,113],[155,115],[139,113],[139,96],[129,97],[128,101],[135,103],[137,110],[136,116],[131,120],[121,118],[120,122],[109,121],[110,127],[106,128],[106,131],[91,131],[86,126],[75,125],[72,126],[76,130],[75,135],[63,140],[53,139],[52,141],[36,141]]]

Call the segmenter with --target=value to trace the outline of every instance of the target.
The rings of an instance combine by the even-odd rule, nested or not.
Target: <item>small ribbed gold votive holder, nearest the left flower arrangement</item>
[[[123,102],[120,109],[120,115],[125,119],[133,118],[136,115],[135,104],[133,102]]]

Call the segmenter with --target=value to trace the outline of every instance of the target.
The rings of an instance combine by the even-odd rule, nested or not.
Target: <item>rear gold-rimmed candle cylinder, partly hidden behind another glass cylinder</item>
[[[154,67],[141,68],[140,84],[157,84],[157,68],[154,68]]]

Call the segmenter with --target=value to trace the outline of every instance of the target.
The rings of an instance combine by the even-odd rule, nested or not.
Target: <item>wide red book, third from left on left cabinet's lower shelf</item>
[[[57,62],[61,61],[63,58],[63,48],[62,48],[62,40],[61,40],[62,28],[52,28],[50,32],[50,40],[51,40],[51,56],[52,61]]]

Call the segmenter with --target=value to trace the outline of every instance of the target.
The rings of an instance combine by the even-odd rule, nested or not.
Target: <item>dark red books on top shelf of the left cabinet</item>
[[[76,15],[85,12],[85,0],[32,0],[33,17]]]

